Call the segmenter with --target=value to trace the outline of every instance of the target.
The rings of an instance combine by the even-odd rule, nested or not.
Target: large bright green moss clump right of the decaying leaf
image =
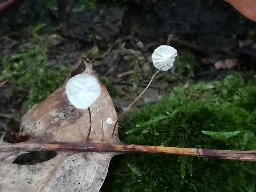
[[[250,90],[249,90],[250,88]],[[239,74],[175,88],[121,122],[123,142],[207,149],[256,149],[256,83]],[[118,156],[116,157],[116,159]],[[256,164],[164,154],[126,154],[102,191],[254,192]]]

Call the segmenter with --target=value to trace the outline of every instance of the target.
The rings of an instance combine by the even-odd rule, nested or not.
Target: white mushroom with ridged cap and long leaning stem
[[[143,95],[143,93],[149,88],[149,85],[152,83],[154,77],[156,76],[159,71],[167,71],[168,69],[171,69],[173,67],[173,63],[175,61],[175,57],[178,55],[178,51],[169,46],[169,45],[160,45],[157,47],[153,54],[152,54],[152,62],[153,65],[158,69],[152,78],[150,79],[147,87],[140,93],[140,95],[126,108],[126,111],[130,109],[130,107]],[[123,113],[119,116],[117,119],[115,125],[114,125],[114,130],[113,130],[113,135],[115,132],[116,124],[118,123],[119,119],[123,116],[123,114],[126,113],[126,111],[123,111]]]

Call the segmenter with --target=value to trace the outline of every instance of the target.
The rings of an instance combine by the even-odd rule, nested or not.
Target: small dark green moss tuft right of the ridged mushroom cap
[[[199,62],[194,58],[190,52],[182,52],[176,60],[177,73],[191,76],[194,70],[199,66]]]

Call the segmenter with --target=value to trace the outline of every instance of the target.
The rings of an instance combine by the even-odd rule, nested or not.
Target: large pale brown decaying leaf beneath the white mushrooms
[[[70,77],[80,73],[96,77],[87,58],[77,62]],[[117,129],[115,135],[112,135],[114,123],[109,125],[106,122],[109,117],[115,122],[117,114],[104,85],[100,83],[102,92],[96,102],[87,110],[80,110],[69,103],[65,84],[23,116],[21,135],[29,135],[30,141],[35,142],[120,144]],[[97,192],[107,175],[109,161],[116,154],[57,152],[48,161],[18,165],[12,162],[19,154],[1,152],[0,191]]]

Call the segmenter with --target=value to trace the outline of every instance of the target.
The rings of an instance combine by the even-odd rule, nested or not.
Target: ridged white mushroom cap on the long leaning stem
[[[178,51],[169,45],[160,45],[152,54],[152,62],[156,69],[163,68],[162,71],[167,71],[173,67],[175,57],[178,55]]]

